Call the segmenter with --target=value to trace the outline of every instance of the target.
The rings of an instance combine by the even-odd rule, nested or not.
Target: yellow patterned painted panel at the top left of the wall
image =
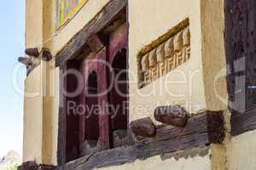
[[[88,0],[55,0],[56,1],[56,29],[65,25]]]

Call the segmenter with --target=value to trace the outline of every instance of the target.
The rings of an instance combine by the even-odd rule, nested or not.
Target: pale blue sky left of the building
[[[1,1],[0,10],[0,157],[9,150],[22,151],[23,98],[12,84],[23,86],[26,70],[13,81],[17,59],[24,55],[25,0]]]

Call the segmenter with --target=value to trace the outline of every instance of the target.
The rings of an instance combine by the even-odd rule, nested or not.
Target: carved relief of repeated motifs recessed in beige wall
[[[182,65],[190,58],[189,19],[144,47],[137,55],[139,88]]]

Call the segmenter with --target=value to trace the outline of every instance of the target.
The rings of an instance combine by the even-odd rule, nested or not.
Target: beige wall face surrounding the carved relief
[[[190,59],[166,76],[138,89],[139,50],[188,17],[191,35]],[[201,64],[201,1],[189,3],[187,0],[130,0],[129,24],[131,121],[153,116],[155,107],[159,105],[184,105],[190,112],[205,109]]]

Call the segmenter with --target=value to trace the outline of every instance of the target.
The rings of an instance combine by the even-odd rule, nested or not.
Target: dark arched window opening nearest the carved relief
[[[108,94],[110,104],[110,148],[122,146],[127,140],[128,73],[126,65],[126,49],[120,50],[119,53],[114,56],[112,69],[112,88]]]

